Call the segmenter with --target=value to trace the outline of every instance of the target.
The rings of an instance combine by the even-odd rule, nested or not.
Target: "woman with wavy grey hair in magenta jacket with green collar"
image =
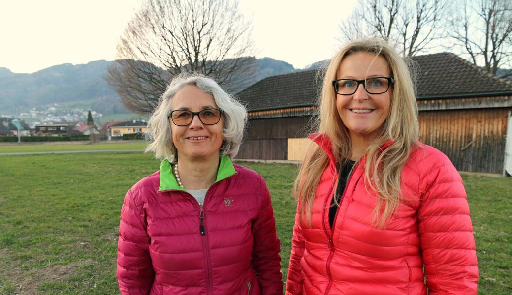
[[[268,188],[232,163],[245,108],[209,78],[175,77],[148,122],[160,170],[124,198],[122,294],[282,294]]]

